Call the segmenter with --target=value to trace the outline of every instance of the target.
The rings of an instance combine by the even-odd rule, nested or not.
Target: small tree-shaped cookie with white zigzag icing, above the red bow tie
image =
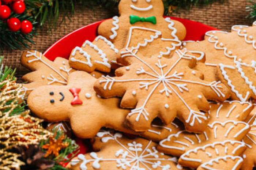
[[[116,54],[118,49],[105,37],[99,35],[93,42],[86,40],[82,47],[72,50],[69,57],[69,65],[72,68],[93,72],[95,69],[102,72],[110,72],[111,68],[117,68]]]

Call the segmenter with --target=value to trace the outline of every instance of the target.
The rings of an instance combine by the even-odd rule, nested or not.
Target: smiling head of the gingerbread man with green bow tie
[[[118,5],[120,14],[148,16],[163,16],[161,0],[121,0]]]

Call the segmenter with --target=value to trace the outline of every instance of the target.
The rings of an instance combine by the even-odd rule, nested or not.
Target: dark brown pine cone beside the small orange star
[[[26,163],[20,167],[21,170],[46,170],[54,166],[54,161],[45,159],[45,153],[37,145],[17,146],[16,149],[21,154],[21,160]]]

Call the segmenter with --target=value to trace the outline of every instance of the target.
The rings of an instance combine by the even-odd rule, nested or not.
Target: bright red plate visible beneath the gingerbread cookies
[[[213,27],[204,25],[199,22],[195,22],[192,20],[175,18],[171,17],[174,20],[180,21],[187,29],[187,35],[184,39],[186,40],[203,40],[204,34],[210,30],[217,30]],[[81,27],[77,29],[61,39],[55,42],[52,46],[50,46],[45,52],[44,56],[46,56],[49,60],[54,60],[56,57],[68,58],[72,49],[76,46],[82,46],[85,40],[93,41],[97,36],[97,28],[101,22],[104,20],[89,24],[87,26]],[[80,154],[85,154],[88,151],[89,140],[84,139],[76,139],[76,143],[80,146]]]

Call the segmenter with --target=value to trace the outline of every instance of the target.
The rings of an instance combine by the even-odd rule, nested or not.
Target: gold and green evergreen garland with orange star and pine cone
[[[0,65],[3,57],[0,57]],[[30,115],[15,69],[0,67],[0,169],[67,170],[78,146],[63,131],[47,131]]]

